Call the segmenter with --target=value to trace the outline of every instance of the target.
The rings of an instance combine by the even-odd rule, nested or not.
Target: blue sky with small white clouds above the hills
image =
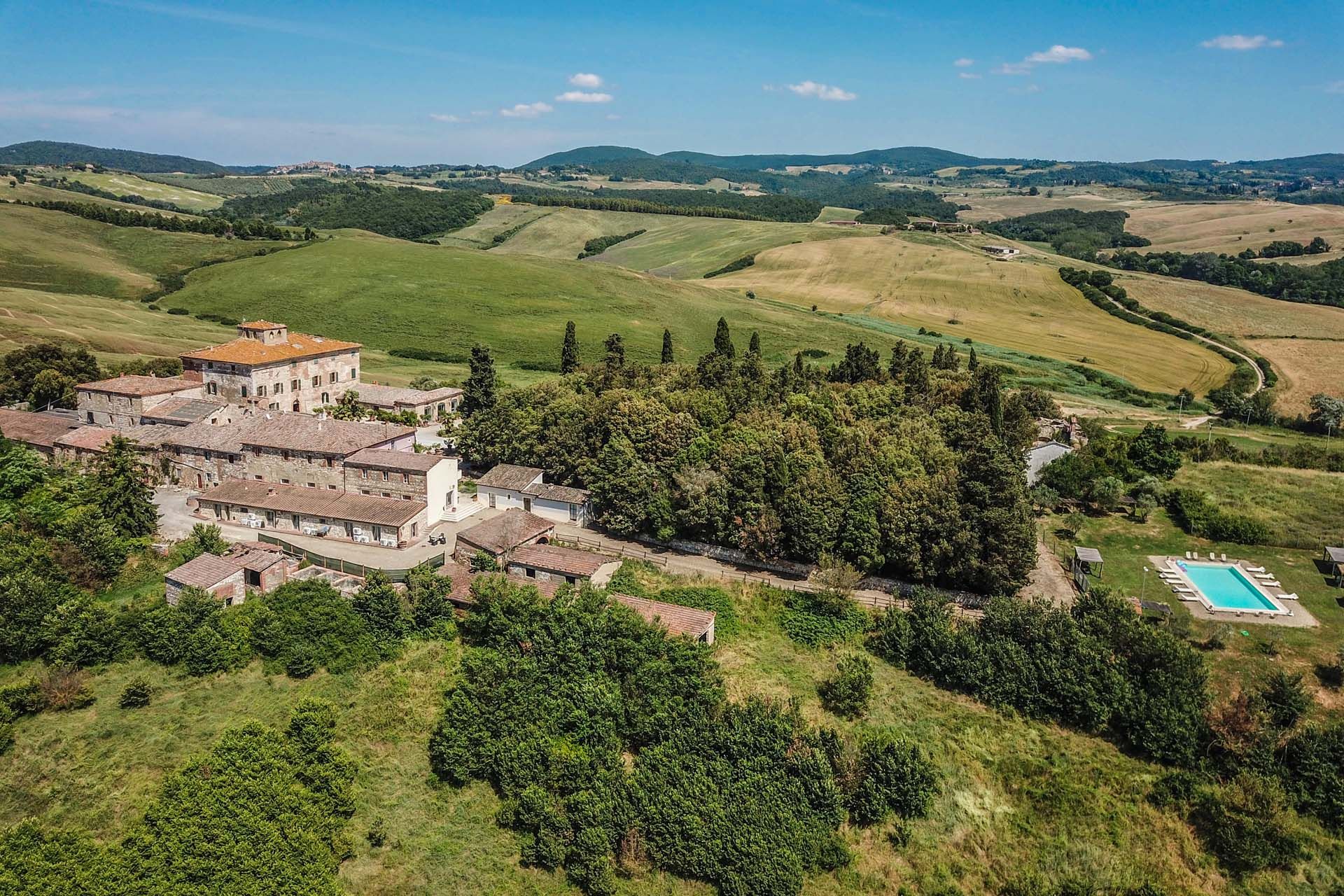
[[[1344,152],[1339,0],[642,5],[0,0],[0,144],[356,165]]]

